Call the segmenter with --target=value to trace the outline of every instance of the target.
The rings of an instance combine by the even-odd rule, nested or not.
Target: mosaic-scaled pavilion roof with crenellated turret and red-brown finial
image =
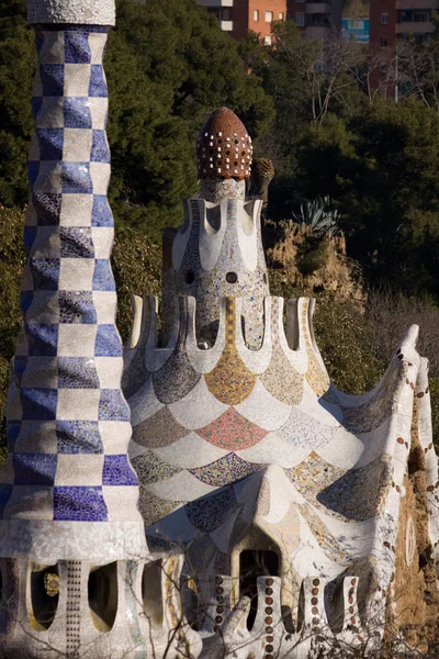
[[[259,201],[223,153],[247,139],[230,114],[202,130],[200,198],[166,234],[165,340],[157,301],[135,299],[124,387],[148,546],[184,558],[203,657],[368,656],[385,629],[423,627],[436,581],[427,364],[414,326],[374,390],[331,384],[313,301],[289,301],[284,324],[267,297]]]

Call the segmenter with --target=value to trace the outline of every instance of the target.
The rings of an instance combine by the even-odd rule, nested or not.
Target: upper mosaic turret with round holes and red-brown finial
[[[262,201],[245,199],[251,156],[251,138],[243,122],[227,108],[214,112],[196,145],[200,197],[185,202],[181,230],[165,233],[167,337],[176,295],[193,295],[198,340],[211,347],[218,328],[219,298],[228,295],[243,300],[247,344],[261,345],[263,299],[270,291],[260,232]]]

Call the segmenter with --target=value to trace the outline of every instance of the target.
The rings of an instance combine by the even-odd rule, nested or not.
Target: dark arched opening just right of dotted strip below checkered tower
[[[117,562],[91,570],[88,585],[93,625],[99,632],[110,632],[117,613]]]

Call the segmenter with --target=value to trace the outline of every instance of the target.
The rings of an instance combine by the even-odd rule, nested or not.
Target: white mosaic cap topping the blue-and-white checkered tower
[[[27,22],[114,25],[114,0],[27,0]]]

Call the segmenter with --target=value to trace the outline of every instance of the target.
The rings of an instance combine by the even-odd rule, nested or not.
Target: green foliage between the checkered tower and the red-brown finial
[[[236,42],[193,0],[120,0],[105,70],[111,196],[126,223],[156,227],[156,237],[195,191],[194,141],[207,115],[228,105],[257,139],[272,103]]]

